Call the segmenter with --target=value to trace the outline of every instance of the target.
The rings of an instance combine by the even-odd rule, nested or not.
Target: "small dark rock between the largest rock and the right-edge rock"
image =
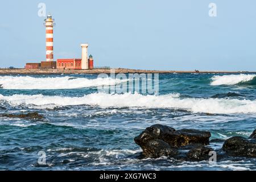
[[[212,148],[199,146],[192,148],[188,151],[187,157],[193,161],[201,161],[201,160],[208,160],[209,159],[209,152],[213,151]]]

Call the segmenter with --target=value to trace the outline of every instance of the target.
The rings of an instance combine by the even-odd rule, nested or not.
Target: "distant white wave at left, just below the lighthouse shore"
[[[101,85],[115,85],[129,80],[113,78],[79,78],[79,77],[31,77],[31,76],[0,76],[2,89],[79,89]]]

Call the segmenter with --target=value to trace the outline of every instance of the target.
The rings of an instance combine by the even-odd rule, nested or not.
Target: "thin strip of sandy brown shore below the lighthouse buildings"
[[[157,70],[141,70],[141,69],[114,69],[115,73],[256,73],[242,71],[157,71]],[[92,69],[92,70],[72,70],[72,69],[0,69],[0,75],[29,75],[29,74],[100,74],[110,73],[110,69]]]

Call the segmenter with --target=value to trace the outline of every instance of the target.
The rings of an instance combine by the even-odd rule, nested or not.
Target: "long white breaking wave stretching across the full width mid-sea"
[[[42,94],[3,96],[0,94],[0,100],[9,102],[11,105],[27,105],[40,107],[40,109],[52,108],[53,106],[89,105],[182,109],[192,113],[211,114],[256,113],[256,101],[224,98],[180,98],[179,94],[144,96],[138,93],[92,93],[83,97],[43,96]]]

